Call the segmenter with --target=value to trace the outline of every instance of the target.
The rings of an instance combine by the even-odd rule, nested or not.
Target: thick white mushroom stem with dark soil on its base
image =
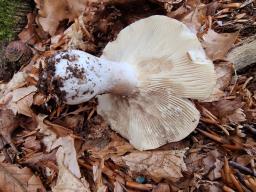
[[[113,93],[128,96],[136,91],[137,75],[128,63],[97,58],[79,50],[59,52],[48,60],[54,64],[52,82],[64,92],[67,104],[79,104],[96,95]],[[46,74],[48,72],[46,71]],[[48,77],[47,74],[45,77]]]

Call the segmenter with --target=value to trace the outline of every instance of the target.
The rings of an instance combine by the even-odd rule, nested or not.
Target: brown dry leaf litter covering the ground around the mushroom
[[[255,70],[237,75],[225,57],[234,44],[255,33],[255,2],[36,0],[35,4],[37,12],[28,14],[28,24],[19,35],[33,47],[34,56],[0,86],[0,166],[9,178],[1,182],[1,189],[256,190]],[[215,64],[214,93],[207,101],[195,101],[201,121],[189,137],[157,150],[137,151],[97,115],[96,100],[68,106],[54,95],[38,92],[35,86],[45,58],[70,48],[100,55],[122,28],[155,14],[184,22]]]

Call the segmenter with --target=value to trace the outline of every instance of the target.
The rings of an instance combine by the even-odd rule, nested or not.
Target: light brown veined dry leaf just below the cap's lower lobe
[[[167,179],[177,181],[183,177],[187,167],[184,162],[186,149],[172,151],[132,152],[111,159],[121,166],[127,166],[131,175],[142,174],[155,181]]]

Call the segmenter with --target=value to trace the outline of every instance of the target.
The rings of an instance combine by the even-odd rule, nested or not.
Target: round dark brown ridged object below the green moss
[[[5,58],[17,62],[19,66],[27,64],[33,56],[31,48],[22,41],[12,41],[5,49]]]

